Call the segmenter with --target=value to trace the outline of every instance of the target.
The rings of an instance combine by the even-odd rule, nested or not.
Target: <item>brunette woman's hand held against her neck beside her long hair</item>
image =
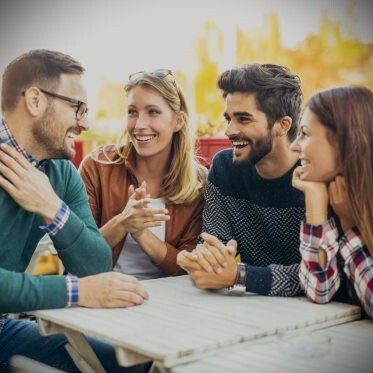
[[[353,218],[351,202],[343,176],[337,176],[329,184],[329,199],[333,211],[339,216],[343,231],[355,227],[356,222]]]

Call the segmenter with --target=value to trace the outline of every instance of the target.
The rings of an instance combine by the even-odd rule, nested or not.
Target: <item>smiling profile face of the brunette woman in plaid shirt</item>
[[[330,143],[333,136],[307,107],[301,120],[301,133],[291,145],[299,153],[302,180],[328,182],[340,173],[337,143]]]

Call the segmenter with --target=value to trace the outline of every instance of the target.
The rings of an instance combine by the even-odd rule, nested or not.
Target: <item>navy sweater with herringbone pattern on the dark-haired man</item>
[[[262,295],[303,294],[299,285],[299,229],[304,194],[291,186],[296,163],[277,179],[251,165],[235,165],[232,149],[216,154],[205,189],[203,231],[238,243],[247,266],[246,290]]]

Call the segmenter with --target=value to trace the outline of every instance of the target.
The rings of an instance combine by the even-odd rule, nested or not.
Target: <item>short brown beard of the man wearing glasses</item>
[[[54,128],[56,127],[55,111],[49,106],[38,125],[32,129],[34,140],[49,159],[72,159],[75,152],[69,151],[66,145],[66,135],[63,139],[56,138]],[[58,124],[57,124],[58,125]]]

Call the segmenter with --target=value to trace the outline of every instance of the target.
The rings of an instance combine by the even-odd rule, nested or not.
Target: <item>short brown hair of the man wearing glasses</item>
[[[55,90],[63,73],[82,74],[84,68],[72,57],[46,49],[32,50],[13,60],[5,69],[1,89],[1,110],[14,109],[22,92],[31,86]]]

